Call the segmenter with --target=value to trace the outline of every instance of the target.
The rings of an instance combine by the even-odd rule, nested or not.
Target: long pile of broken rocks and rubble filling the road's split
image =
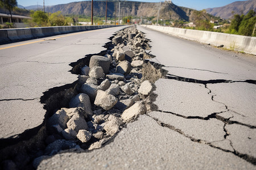
[[[34,167],[59,151],[100,148],[126,123],[150,110],[154,84],[143,77],[150,49],[135,27],[119,31],[105,56],[92,56],[79,75],[79,91],[47,120],[47,147]]]

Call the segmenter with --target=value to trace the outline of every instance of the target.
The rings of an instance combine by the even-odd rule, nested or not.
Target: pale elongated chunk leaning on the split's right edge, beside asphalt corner
[[[146,113],[146,107],[142,104],[142,102],[138,101],[134,105],[132,105],[129,109],[126,109],[122,113],[122,120],[125,122],[133,121],[135,118],[139,116],[139,114]]]

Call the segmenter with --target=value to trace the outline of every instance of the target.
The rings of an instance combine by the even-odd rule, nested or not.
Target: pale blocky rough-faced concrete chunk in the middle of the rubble
[[[117,101],[118,99],[115,96],[108,94],[108,92],[98,90],[94,104],[102,107],[105,111],[108,111],[117,103]]]

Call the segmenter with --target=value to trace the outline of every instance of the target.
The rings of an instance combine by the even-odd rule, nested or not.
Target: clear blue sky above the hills
[[[44,5],[57,5],[69,2],[79,2],[80,0],[44,0]],[[138,1],[138,0],[137,0]],[[159,0],[160,1],[160,0]],[[159,2],[158,0],[141,0],[141,2]],[[164,1],[164,0],[162,0]],[[196,10],[203,10],[205,8],[221,7],[228,5],[229,3],[238,0],[172,0],[172,2],[177,6],[184,6],[193,8]],[[246,1],[246,0],[239,0]],[[19,5],[30,6],[30,5],[43,5],[43,0],[17,0]]]

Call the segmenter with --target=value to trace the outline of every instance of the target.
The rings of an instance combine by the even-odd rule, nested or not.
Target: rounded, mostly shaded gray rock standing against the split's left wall
[[[84,109],[84,112],[86,114],[92,115],[92,105],[90,104],[90,98],[88,95],[86,94],[78,94],[75,97],[73,97],[71,99],[71,101],[69,102],[69,107],[71,108],[77,108],[77,107],[81,107]],[[67,110],[68,112],[79,112],[76,110]],[[85,115],[84,115],[85,116]],[[87,117],[87,116],[85,116]]]

